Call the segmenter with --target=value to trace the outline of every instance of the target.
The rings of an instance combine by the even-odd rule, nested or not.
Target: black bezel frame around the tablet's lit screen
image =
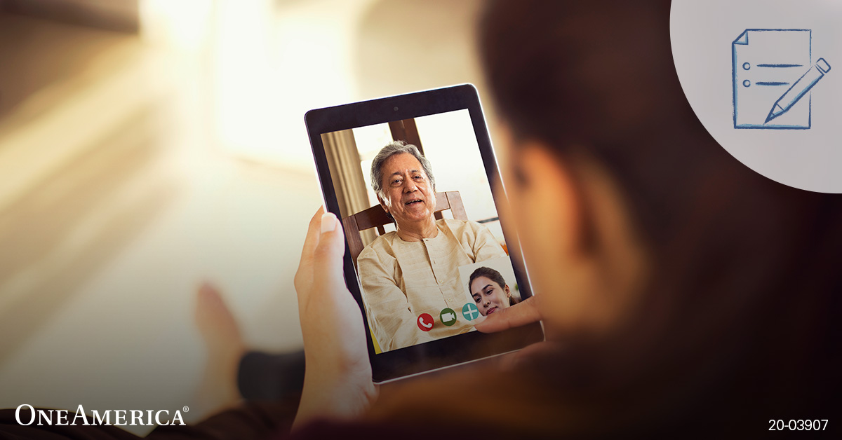
[[[322,145],[322,134],[462,109],[467,109],[471,115],[474,135],[477,137],[485,173],[496,199],[498,194],[495,191],[495,183],[499,181],[500,175],[491,146],[491,139],[488,136],[488,128],[482,115],[482,106],[479,102],[477,89],[471,84],[461,84],[308,111],[304,115],[304,120],[307,134],[310,137],[310,145],[316,162],[317,175],[322,186],[326,209],[340,217],[338,199],[333,187],[333,179],[330,177],[328,158]],[[495,208],[498,208],[496,200]],[[528,298],[532,295],[532,291],[523,261],[520,259],[519,244],[516,237],[509,237],[505,232],[504,238],[509,247],[509,257],[511,257],[514,266],[514,275],[518,281],[520,294],[523,299]],[[354,300],[357,301],[365,317],[369,359],[373,378],[377,383],[509,353],[530,343],[541,342],[544,338],[541,325],[536,322],[529,326],[499,333],[471,331],[411,347],[375,353],[370,328],[367,325],[368,319],[365,314],[360,283],[354,271],[354,262],[350,256],[348,241],[345,241],[344,276],[345,284],[348,285],[349,291],[354,295]]]

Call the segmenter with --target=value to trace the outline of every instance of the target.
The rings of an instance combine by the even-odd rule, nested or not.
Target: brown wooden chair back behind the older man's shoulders
[[[440,220],[444,218],[441,213],[447,209],[450,209],[450,213],[454,219],[468,220],[468,215],[465,213],[465,206],[462,205],[462,198],[459,195],[459,191],[435,193],[435,219]],[[357,265],[357,257],[360,256],[360,252],[363,252],[363,248],[365,247],[363,246],[360,231],[377,228],[377,234],[383,235],[386,233],[386,229],[383,226],[392,222],[392,218],[386,214],[386,211],[379,204],[342,219],[342,228],[345,231],[345,239],[348,240],[351,257],[354,258],[354,267]]]

